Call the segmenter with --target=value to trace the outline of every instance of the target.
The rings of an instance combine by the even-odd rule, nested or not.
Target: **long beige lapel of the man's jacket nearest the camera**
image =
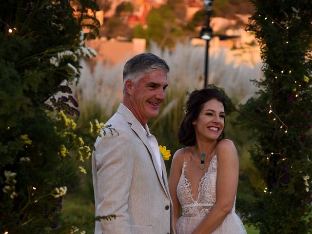
[[[125,117],[125,119],[128,121],[128,123],[131,124],[131,129],[133,131],[135,131],[137,133],[137,136],[142,140],[142,142],[144,143],[144,145],[146,146],[146,148],[148,149],[151,158],[152,158],[152,162],[154,165],[154,168],[156,170],[158,179],[166,193],[166,195],[169,197],[169,193],[167,191],[167,183],[166,183],[166,179],[163,179],[162,176],[166,176],[167,177],[167,173],[166,173],[166,169],[165,169],[165,164],[164,161],[161,159],[161,170],[162,170],[162,176],[160,174],[160,171],[158,169],[158,167],[156,166],[156,156],[154,155],[153,149],[147,139],[146,133],[142,130],[142,126],[141,124],[138,122],[137,118],[123,105],[120,104],[118,107],[117,112],[119,112],[121,115],[123,115],[123,117]]]

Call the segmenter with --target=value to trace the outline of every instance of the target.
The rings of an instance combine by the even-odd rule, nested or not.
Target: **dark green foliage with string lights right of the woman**
[[[263,179],[237,206],[261,234],[311,233],[312,5],[309,0],[252,0],[248,30],[261,47],[265,79],[240,106],[253,133],[250,155]]]

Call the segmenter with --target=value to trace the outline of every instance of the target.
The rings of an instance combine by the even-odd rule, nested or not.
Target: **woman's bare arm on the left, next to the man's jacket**
[[[170,174],[169,174],[169,193],[172,199],[173,208],[174,208],[174,230],[176,232],[176,220],[179,218],[180,214],[180,203],[176,195],[176,187],[179,182],[181,172],[182,172],[182,166],[183,166],[183,160],[184,160],[184,149],[179,149],[176,151],[175,155],[172,158],[171,162],[171,168],[170,168]]]

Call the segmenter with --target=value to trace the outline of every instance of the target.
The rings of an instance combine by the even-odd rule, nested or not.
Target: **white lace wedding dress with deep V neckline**
[[[176,234],[191,234],[210,212],[216,201],[215,186],[218,167],[216,156],[211,159],[208,171],[201,178],[196,200],[192,196],[190,182],[185,178],[186,167],[187,163],[184,162],[176,188],[183,215],[176,221]],[[247,234],[242,221],[235,214],[235,203],[231,213],[212,234]]]

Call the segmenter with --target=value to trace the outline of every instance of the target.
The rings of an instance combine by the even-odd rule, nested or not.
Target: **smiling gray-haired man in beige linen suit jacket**
[[[172,202],[165,164],[147,121],[165,98],[169,67],[151,53],[139,54],[123,69],[123,101],[106,125],[116,130],[98,137],[92,155],[95,234],[169,234]]]

